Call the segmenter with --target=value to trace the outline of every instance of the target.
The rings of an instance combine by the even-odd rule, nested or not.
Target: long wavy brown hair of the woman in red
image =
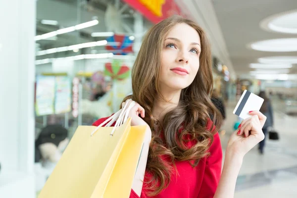
[[[153,117],[152,107],[154,99],[162,98],[159,84],[161,54],[167,33],[180,23],[190,25],[200,36],[200,66],[193,83],[182,90],[178,106],[167,112],[160,121]],[[133,95],[124,101],[133,99],[144,107],[144,120],[152,131],[146,168],[152,177],[145,178],[149,196],[159,194],[169,185],[170,177],[176,170],[175,161],[189,161],[194,167],[199,159],[208,156],[213,135],[222,121],[210,100],[212,87],[210,44],[202,28],[194,21],[172,16],[148,31],[132,68]],[[213,121],[211,129],[206,128],[209,120]],[[194,141],[194,146],[187,147],[187,141]]]

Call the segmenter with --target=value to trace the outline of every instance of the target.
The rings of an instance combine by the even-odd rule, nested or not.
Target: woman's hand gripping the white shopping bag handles
[[[132,99],[127,99],[125,102],[122,103],[122,108],[125,106],[126,102],[129,104],[132,102]],[[135,101],[134,101],[135,102]],[[141,115],[141,117],[139,116]],[[148,125],[142,118],[145,117],[145,109],[135,102],[135,105],[131,108],[129,112],[129,117],[131,117],[131,126],[138,126],[138,125]]]

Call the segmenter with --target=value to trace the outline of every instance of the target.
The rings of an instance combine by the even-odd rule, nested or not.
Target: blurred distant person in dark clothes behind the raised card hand
[[[265,91],[261,91],[258,96],[264,99],[264,102],[260,108],[260,111],[267,117],[266,122],[262,129],[264,135],[266,136],[268,128],[273,127],[273,110],[272,110],[270,99],[266,96]],[[264,153],[264,146],[265,146],[265,138],[259,143],[258,149],[260,154]]]

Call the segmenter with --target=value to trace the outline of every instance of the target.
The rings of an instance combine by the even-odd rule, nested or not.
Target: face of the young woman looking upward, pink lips
[[[182,90],[191,85],[198,72],[200,37],[194,28],[181,23],[171,29],[164,44],[160,86],[166,90]]]

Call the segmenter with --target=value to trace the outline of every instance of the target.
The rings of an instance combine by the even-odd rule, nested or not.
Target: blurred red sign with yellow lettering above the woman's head
[[[174,0],[124,0],[131,7],[138,10],[152,23],[172,15],[183,15]]]

